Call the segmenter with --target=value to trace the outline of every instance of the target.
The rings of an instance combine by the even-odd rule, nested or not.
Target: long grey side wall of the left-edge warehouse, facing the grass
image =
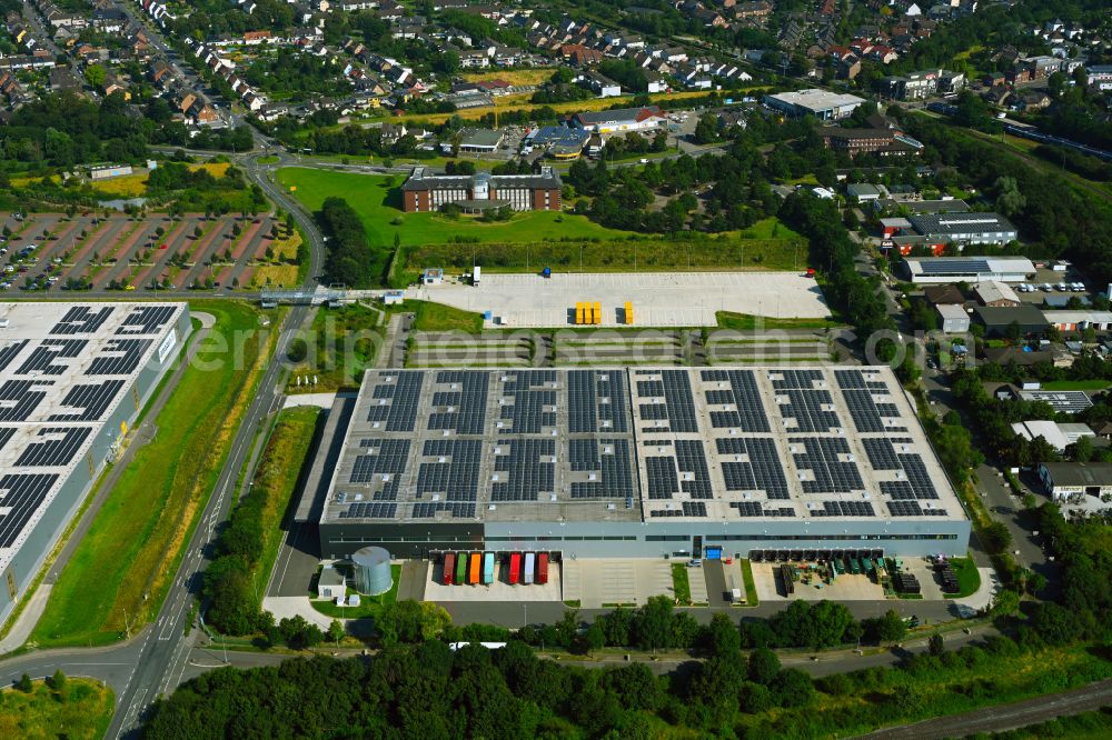
[[[155,392],[162,376],[181,353],[190,330],[189,308],[187,306],[175,326],[177,341],[173,350],[163,362],[159,362],[156,348],[155,354],[139,371],[136,382],[120,397],[116,410],[112,411],[100,432],[93,438],[87,453],[80,461],[75,462],[72,472],[46,508],[34,529],[28,534],[27,542],[4,570],[3,584],[0,587],[0,623],[8,619],[16,602],[42,568],[47,556],[50,554],[73,514],[81,507],[86,496],[92,490],[93,482],[103,471],[112,444],[120,434],[120,424],[127,422],[129,429],[135,424],[140,410]],[[12,587],[14,587],[14,596]]]

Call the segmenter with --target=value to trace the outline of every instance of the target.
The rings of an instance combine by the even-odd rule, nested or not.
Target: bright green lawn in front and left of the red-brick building
[[[399,190],[405,181],[404,176],[282,168],[278,170],[277,179],[284,188],[296,187],[294,194],[314,211],[331,196],[347,199],[363,219],[371,246],[376,247],[393,247],[395,233],[407,247],[444,244],[463,233],[484,242],[614,239],[629,234],[627,231],[600,227],[584,216],[569,213],[520,213],[502,223],[483,223],[471,218],[453,220],[435,213],[405,213],[401,211]],[[396,219],[400,219],[401,223],[391,223]],[[466,247],[460,246],[460,249]]]

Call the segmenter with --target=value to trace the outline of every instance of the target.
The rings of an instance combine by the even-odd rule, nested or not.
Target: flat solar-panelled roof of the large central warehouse
[[[963,519],[886,367],[374,370],[322,522]]]

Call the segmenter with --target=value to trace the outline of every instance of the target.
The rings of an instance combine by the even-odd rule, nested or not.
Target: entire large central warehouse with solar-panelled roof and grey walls
[[[318,499],[299,508],[324,558],[370,544],[594,558],[969,544],[888,368],[375,370],[344,416],[306,494]]]

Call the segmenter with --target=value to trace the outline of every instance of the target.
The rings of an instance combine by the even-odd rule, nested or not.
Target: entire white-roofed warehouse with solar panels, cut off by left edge
[[[0,621],[189,329],[186,303],[0,306]]]

